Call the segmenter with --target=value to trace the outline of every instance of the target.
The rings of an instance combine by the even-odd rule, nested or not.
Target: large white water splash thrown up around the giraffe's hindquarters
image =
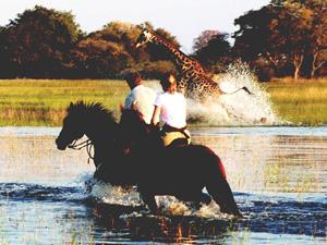
[[[226,74],[215,77],[221,90],[219,98],[208,98],[205,102],[187,99],[189,121],[206,125],[276,125],[281,120],[272,110],[268,93],[257,83],[249,66],[237,63],[229,66]],[[252,95],[244,90],[247,87]]]

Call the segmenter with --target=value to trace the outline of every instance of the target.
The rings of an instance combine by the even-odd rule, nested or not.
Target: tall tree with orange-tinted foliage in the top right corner
[[[291,63],[293,76],[298,79],[303,61],[313,56],[315,49],[322,50],[317,40],[324,40],[320,30],[315,30],[317,23],[324,26],[324,17],[315,17],[315,4],[323,8],[323,3],[317,0],[310,0],[315,4],[305,2],[275,0],[237,19],[234,23],[240,29],[234,34],[235,50],[252,60],[264,56],[276,69]]]

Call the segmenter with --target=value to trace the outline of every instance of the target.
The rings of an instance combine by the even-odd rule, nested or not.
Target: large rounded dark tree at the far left
[[[70,51],[82,35],[70,12],[36,5],[7,26],[9,63],[16,76],[62,77],[71,68]]]

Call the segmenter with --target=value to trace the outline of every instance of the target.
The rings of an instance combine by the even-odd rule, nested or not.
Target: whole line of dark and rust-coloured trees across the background
[[[238,17],[234,34],[204,30],[194,39],[192,57],[211,73],[242,60],[261,81],[274,76],[327,75],[327,8],[323,0],[272,0]],[[180,47],[164,28],[148,28]],[[0,78],[120,78],[141,71],[156,78],[175,71],[165,49],[136,49],[138,25],[110,22],[84,33],[71,12],[36,5],[0,26]],[[234,38],[231,45],[229,38]]]

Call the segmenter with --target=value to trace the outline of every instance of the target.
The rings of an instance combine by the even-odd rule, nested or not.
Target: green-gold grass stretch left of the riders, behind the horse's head
[[[118,112],[123,81],[0,81],[0,125],[61,125],[71,101],[97,101]]]

